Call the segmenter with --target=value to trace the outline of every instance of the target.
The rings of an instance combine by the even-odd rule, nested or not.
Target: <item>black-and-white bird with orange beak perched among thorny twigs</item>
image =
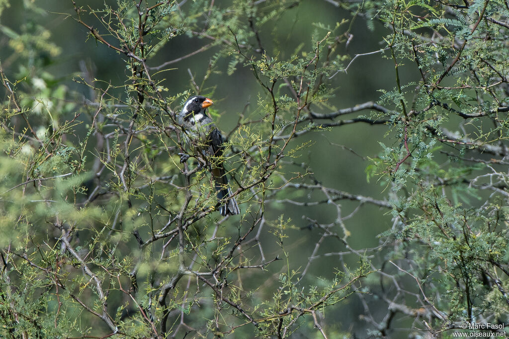
[[[232,196],[232,190],[228,184],[228,178],[224,170],[222,159],[224,144],[221,132],[214,122],[206,114],[207,107],[213,104],[212,100],[201,95],[189,97],[178,116],[178,123],[185,131],[185,139],[189,144],[201,153],[205,161],[214,157],[214,161],[207,161],[209,171],[214,179],[217,199],[219,201],[219,213],[222,216],[240,214],[239,205]],[[180,162],[187,161],[189,155],[179,153]]]

